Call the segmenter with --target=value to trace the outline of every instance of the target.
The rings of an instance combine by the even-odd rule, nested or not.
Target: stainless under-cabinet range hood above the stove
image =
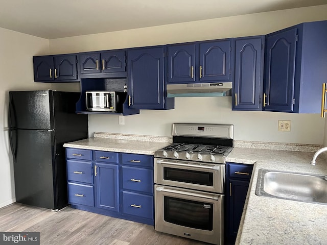
[[[167,97],[222,97],[231,95],[232,83],[167,84]]]

